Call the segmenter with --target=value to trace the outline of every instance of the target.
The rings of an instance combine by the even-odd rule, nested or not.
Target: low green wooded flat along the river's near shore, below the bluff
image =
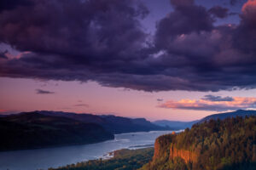
[[[143,167],[154,155],[154,148],[140,150],[118,150],[108,160],[82,161],[76,164],[49,170],[136,170]]]

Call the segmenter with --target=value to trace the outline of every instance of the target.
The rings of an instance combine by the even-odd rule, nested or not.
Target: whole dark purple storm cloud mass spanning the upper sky
[[[152,36],[141,26],[148,9],[137,0],[14,5],[0,13],[0,42],[23,53],[0,59],[0,77],[96,81],[144,91],[255,88],[253,5],[244,6],[239,25],[216,26],[224,8],[170,2],[173,10]]]

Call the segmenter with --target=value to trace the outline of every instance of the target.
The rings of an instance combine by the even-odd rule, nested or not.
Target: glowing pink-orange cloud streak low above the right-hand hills
[[[195,111],[230,111],[239,109],[256,108],[256,98],[245,97],[220,97],[205,96],[202,99],[181,99],[179,101],[169,100],[159,105],[162,108],[172,108]]]

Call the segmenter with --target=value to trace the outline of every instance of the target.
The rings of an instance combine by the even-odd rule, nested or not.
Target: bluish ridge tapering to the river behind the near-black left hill
[[[132,119],[122,116],[96,116],[91,114],[76,114],[61,111],[36,111],[46,116],[61,116],[72,118],[80,122],[93,122],[101,125],[111,133],[132,133],[132,132],[148,132],[154,130],[171,130],[170,127],[157,126],[144,118]]]

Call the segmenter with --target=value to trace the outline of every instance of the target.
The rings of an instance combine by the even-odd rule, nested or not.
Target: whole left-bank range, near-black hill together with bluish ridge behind
[[[0,117],[0,151],[92,144],[113,133],[170,130],[144,118],[96,116],[61,111],[32,111]]]

